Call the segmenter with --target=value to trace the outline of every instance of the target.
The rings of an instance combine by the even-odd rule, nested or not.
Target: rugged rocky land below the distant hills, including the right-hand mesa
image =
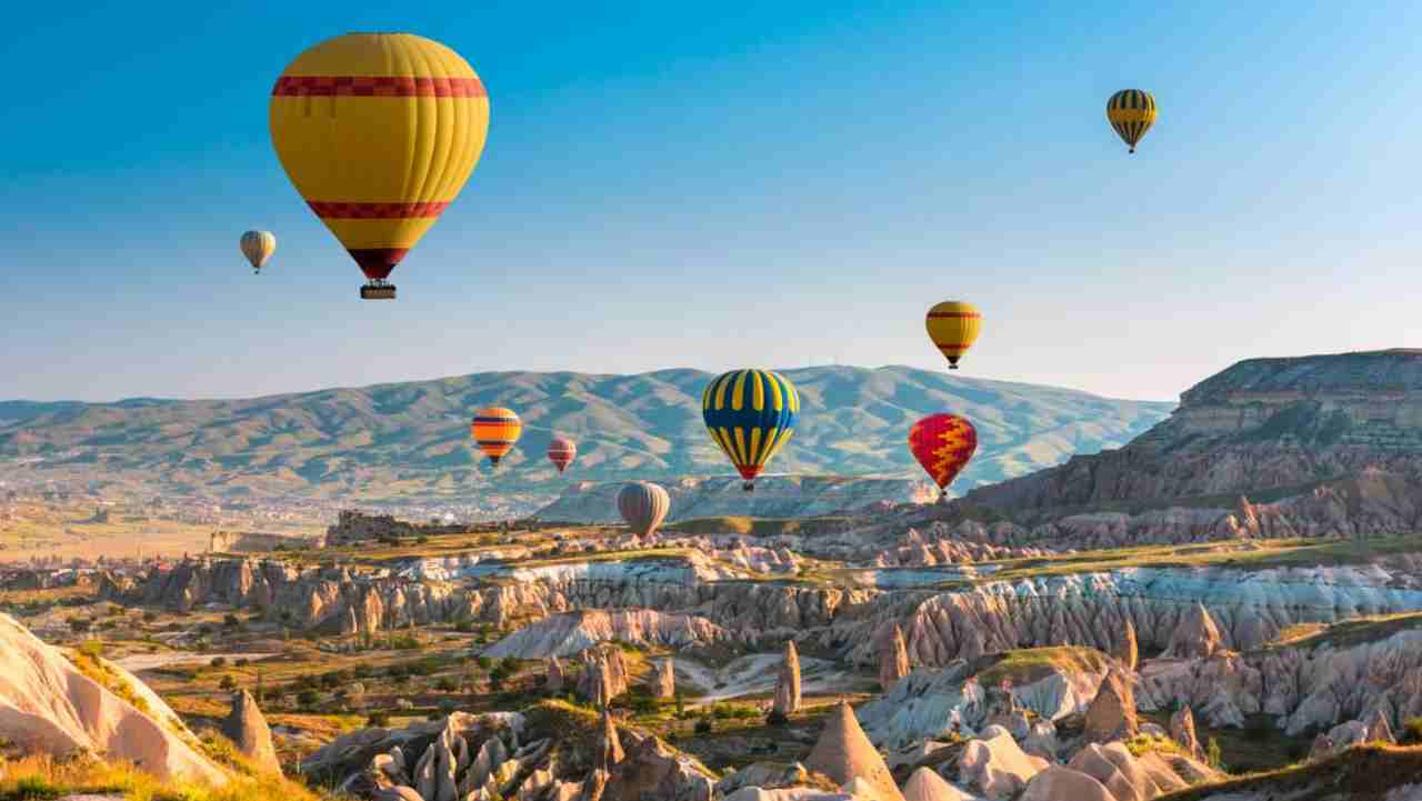
[[[1422,798],[1422,354],[1244,361],[947,504],[843,487],[7,589],[0,798]]]

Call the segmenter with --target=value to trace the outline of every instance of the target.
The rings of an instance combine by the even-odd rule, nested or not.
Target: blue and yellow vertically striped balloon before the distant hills
[[[795,434],[799,394],[785,376],[769,370],[732,370],[718,376],[701,394],[701,418],[717,445],[745,479],[755,477]]]

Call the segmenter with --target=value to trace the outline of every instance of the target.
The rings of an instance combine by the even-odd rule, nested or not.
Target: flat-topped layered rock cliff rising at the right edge
[[[1280,534],[1422,524],[1422,350],[1240,361],[1123,448],[974,489],[958,509],[1042,524],[1187,505],[1223,535],[1241,497],[1264,502],[1257,522]]]

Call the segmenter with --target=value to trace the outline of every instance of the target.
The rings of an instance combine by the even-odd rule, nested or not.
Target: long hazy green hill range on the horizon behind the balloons
[[[917,477],[904,447],[909,425],[954,411],[977,424],[981,440],[960,491],[1118,447],[1172,407],[909,367],[786,376],[799,387],[802,423],[772,471]],[[701,425],[711,377],[478,373],[247,400],[0,403],[0,460],[28,457],[27,468],[41,474],[218,497],[552,497],[572,481],[729,474]],[[471,413],[492,404],[518,410],[525,423],[523,440],[495,474],[468,431]],[[555,428],[579,444],[566,478],[543,457]]]

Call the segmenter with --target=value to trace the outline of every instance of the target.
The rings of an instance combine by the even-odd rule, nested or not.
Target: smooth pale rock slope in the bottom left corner
[[[0,615],[0,737],[27,751],[104,753],[162,778],[225,784],[228,774],[183,741],[192,734],[142,681],[105,663],[146,711],[84,676],[57,649]]]

